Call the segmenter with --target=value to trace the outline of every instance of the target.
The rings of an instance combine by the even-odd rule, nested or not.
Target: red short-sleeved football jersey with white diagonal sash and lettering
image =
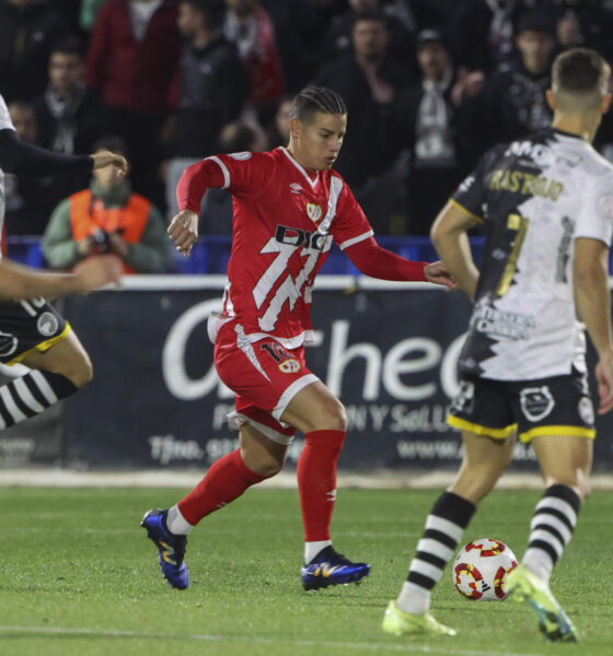
[[[208,160],[234,198],[223,314],[250,342],[312,341],[311,290],[332,242],[344,249],[372,235],[360,206],[336,172],[309,175],[285,148]]]

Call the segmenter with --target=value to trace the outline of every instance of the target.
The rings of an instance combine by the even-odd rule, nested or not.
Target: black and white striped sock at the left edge
[[[74,394],[77,386],[61,374],[33,370],[0,387],[0,431],[44,412]]]

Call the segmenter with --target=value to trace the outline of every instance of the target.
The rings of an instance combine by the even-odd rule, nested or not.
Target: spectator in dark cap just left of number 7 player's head
[[[545,91],[556,48],[554,16],[540,10],[518,23],[519,57],[507,71],[494,73],[472,104],[473,133],[482,150],[498,141],[512,141],[551,124]]]

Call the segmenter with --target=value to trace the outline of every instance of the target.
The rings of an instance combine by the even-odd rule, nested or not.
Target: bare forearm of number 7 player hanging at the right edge
[[[598,352],[595,367],[600,414],[613,409],[613,341],[609,292],[609,246],[599,239],[575,242],[575,298],[581,320]]]

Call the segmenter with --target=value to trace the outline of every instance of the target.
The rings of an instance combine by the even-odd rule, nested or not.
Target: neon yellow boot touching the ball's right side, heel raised
[[[539,618],[539,629],[548,641],[577,642],[577,630],[548,585],[524,565],[507,575],[507,590],[514,601],[528,601]]]

